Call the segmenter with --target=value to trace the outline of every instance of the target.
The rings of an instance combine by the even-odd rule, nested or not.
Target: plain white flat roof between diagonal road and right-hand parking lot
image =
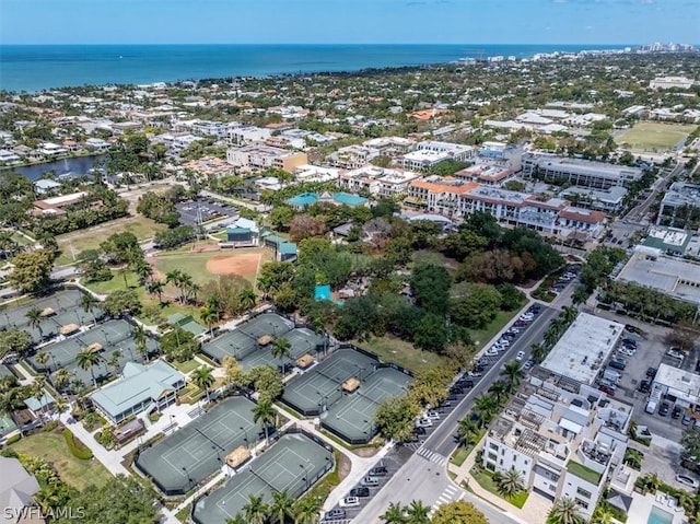
[[[580,313],[541,366],[591,385],[622,334],[623,325]]]

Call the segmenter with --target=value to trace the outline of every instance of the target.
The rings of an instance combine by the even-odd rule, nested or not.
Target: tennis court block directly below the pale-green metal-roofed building
[[[143,450],[135,465],[164,494],[185,494],[221,468],[229,453],[257,440],[260,428],[253,422],[254,408],[255,403],[245,397],[228,398]]]

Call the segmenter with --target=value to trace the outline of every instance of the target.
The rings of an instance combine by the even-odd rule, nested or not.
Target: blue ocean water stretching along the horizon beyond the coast
[[[0,46],[0,89],[144,84],[188,79],[357,71],[459,58],[614,49],[588,45],[91,45]]]

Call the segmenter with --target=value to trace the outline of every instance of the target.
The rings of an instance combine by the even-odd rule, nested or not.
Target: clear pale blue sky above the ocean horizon
[[[699,35],[700,0],[0,0],[1,44],[698,44]]]

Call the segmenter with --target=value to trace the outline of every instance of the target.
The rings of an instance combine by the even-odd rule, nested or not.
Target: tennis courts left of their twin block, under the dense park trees
[[[363,381],[373,372],[378,361],[354,351],[340,349],[328,359],[290,381],[284,387],[282,401],[302,415],[318,415],[342,396],[342,384],[351,377]]]

